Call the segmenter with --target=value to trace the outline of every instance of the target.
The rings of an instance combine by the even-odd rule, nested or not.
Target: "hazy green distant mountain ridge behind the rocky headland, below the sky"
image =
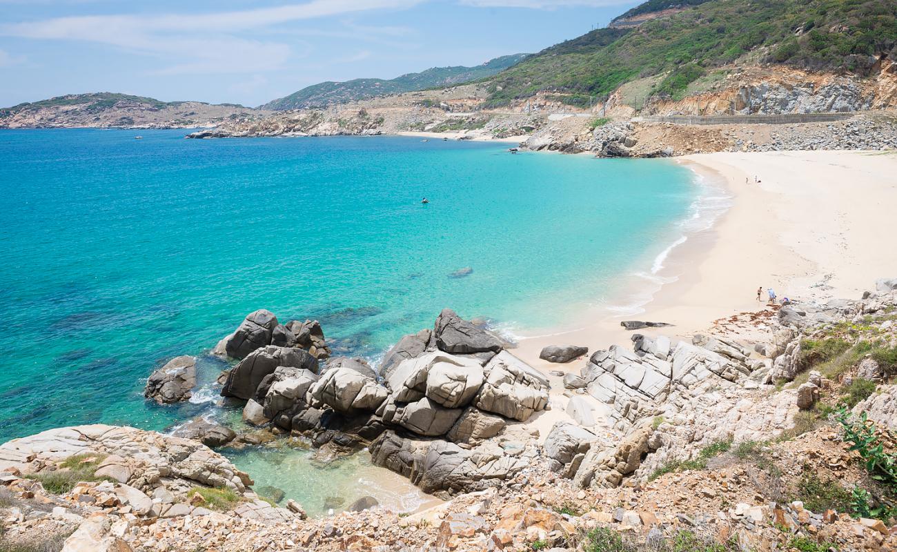
[[[439,86],[452,86],[487,78],[517,65],[529,54],[513,54],[490,59],[480,66],[431,67],[420,73],[408,73],[394,79],[353,79],[344,83],[328,81],[313,84],[289,96],[259,106],[262,110],[300,110],[331,104],[359,101],[384,94],[414,92]]]

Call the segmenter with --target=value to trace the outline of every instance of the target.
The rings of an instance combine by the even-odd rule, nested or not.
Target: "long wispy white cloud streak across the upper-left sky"
[[[202,14],[90,15],[0,25],[0,35],[81,40],[166,60],[156,74],[257,73],[283,66],[291,49],[270,40],[241,39],[239,31],[371,10],[403,9],[422,0],[311,0],[270,8]],[[388,28],[386,34],[396,32]]]

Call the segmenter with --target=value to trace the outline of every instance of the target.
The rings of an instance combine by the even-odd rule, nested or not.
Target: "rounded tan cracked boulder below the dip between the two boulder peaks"
[[[309,393],[319,403],[344,413],[377,410],[389,394],[373,378],[344,367],[324,372]]]

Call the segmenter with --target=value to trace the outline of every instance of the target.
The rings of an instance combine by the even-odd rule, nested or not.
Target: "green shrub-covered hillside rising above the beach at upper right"
[[[648,13],[687,2],[649,2]],[[694,4],[693,2],[691,4]],[[631,29],[598,29],[528,57],[489,81],[489,106],[536,92],[588,106],[640,77],[667,74],[653,91],[675,95],[716,66],[754,53],[811,70],[866,72],[897,55],[894,0],[710,0]]]

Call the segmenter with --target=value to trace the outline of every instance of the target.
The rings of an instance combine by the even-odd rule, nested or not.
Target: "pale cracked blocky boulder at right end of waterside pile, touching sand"
[[[475,407],[526,422],[548,404],[548,380],[542,372],[507,351],[495,355],[485,371],[488,375],[476,395]]]

